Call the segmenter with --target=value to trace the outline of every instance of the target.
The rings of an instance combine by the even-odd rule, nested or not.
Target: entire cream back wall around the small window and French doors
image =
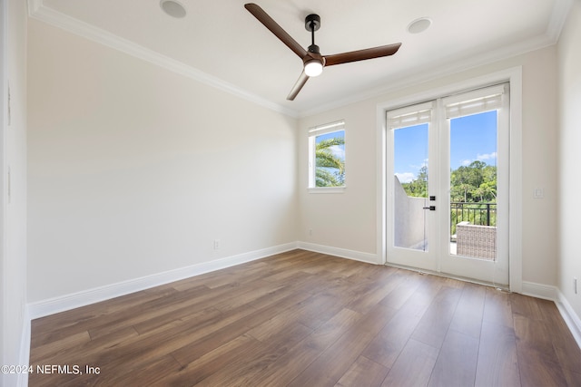
[[[557,118],[556,48],[479,66],[430,82],[315,114],[300,120],[299,198],[300,240],[327,247],[340,247],[377,254],[377,106],[449,84],[522,66],[523,82],[523,176],[522,252],[523,281],[556,285],[557,249]],[[342,194],[311,194],[307,191],[307,130],[322,123],[345,120],[346,185]],[[535,188],[543,188],[544,199],[534,199]],[[312,229],[312,235],[308,230]]]

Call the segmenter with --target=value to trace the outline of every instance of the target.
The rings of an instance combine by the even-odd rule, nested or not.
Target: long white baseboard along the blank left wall
[[[236,256],[228,256],[222,259],[204,262],[198,265],[181,267],[179,269],[157,273],[152,276],[143,276],[141,278],[134,278],[112,285],[104,285],[70,295],[61,295],[29,304],[29,317],[30,319],[34,319],[44,317],[45,315],[49,314],[64,312],[85,305],[91,305],[114,297],[118,297],[120,295],[128,295],[130,293],[139,292],[154,286],[179,281],[184,278],[200,276],[205,273],[210,273],[214,270],[241,265],[256,259],[261,259],[265,256],[280,254],[295,248],[298,248],[298,244],[297,242],[292,242],[280,246],[263,248],[261,250],[255,250]]]

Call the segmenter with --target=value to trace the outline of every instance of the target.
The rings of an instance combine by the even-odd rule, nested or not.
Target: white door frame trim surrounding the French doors
[[[386,113],[407,105],[435,100],[443,95],[486,87],[500,82],[510,83],[510,182],[509,182],[509,226],[508,280],[510,291],[522,293],[522,68],[510,68],[478,78],[453,83],[437,89],[420,92],[381,102],[377,106],[377,251],[378,263],[387,263],[387,176],[386,176]]]

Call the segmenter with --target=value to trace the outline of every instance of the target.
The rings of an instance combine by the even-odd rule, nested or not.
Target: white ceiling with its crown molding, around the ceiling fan
[[[254,0],[305,48],[304,18],[318,14],[322,54],[401,42],[393,56],[327,67],[295,101],[300,58],[243,0],[28,0],[30,15],[294,116],[353,102],[480,63],[555,44],[572,0]],[[429,17],[430,28],[408,24]]]

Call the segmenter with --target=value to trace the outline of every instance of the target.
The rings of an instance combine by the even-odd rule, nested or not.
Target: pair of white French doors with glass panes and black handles
[[[387,113],[387,261],[508,285],[508,84]]]

